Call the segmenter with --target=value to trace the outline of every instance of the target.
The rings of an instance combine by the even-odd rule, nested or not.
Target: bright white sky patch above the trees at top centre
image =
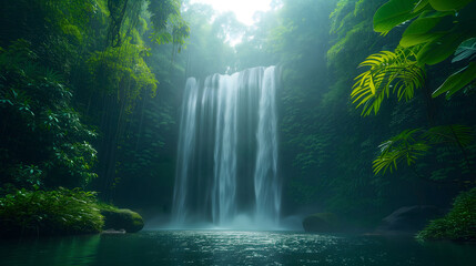
[[[191,0],[191,2],[211,4],[219,12],[233,11],[236,19],[247,25],[253,24],[254,12],[271,9],[271,0]]]

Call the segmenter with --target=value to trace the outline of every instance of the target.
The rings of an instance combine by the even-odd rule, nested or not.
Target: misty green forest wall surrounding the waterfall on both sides
[[[359,63],[394,51],[405,30],[374,31],[385,2],[274,1],[246,27],[190,1],[2,1],[2,194],[80,186],[169,214],[185,79],[278,65],[283,216],[332,212],[368,224],[404,205],[447,207],[468,188],[456,182],[460,151],[438,146],[385,175],[373,161],[408,129],[475,127],[474,90],[428,98],[462,64],[427,66],[425,89],[386,100],[378,115],[362,116],[351,100]],[[470,164],[474,144],[467,151]]]

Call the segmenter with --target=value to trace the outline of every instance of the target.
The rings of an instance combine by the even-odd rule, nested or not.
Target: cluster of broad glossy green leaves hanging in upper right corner
[[[476,19],[473,0],[392,0],[381,7],[374,16],[374,29],[387,33],[394,27],[415,19],[401,39],[401,45],[421,45],[416,61],[418,65],[437,64],[452,54],[456,54],[454,62],[469,58],[474,49],[467,45],[476,35],[474,24]],[[474,60],[474,57],[469,61]],[[476,71],[473,62],[452,74],[433,96],[443,93],[447,98],[465,88],[474,88]]]

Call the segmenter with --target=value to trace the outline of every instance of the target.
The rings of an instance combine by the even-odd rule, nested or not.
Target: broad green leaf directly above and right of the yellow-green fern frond
[[[418,64],[437,64],[452,55],[465,35],[455,31],[426,43],[417,54]]]

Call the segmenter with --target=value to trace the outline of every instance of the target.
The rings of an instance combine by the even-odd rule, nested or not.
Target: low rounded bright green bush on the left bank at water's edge
[[[0,198],[1,236],[89,234],[101,232],[102,225],[93,192],[22,188]]]

